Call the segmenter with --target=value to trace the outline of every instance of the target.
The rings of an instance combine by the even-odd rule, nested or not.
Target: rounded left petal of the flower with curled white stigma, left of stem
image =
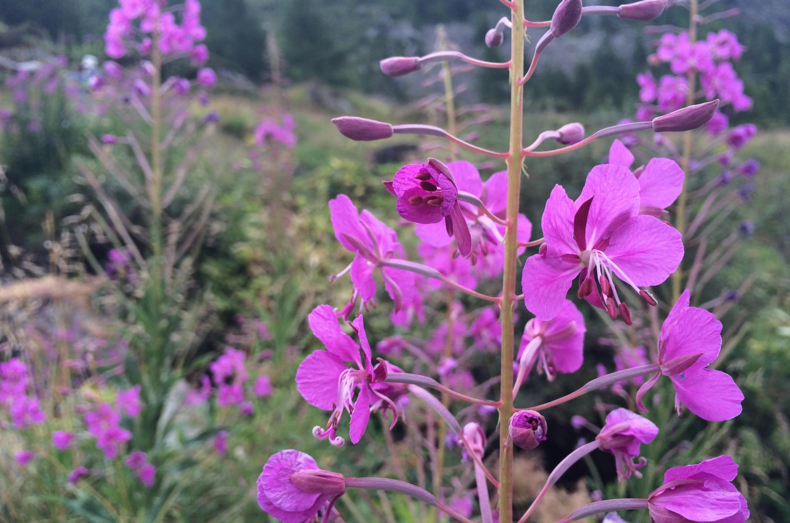
[[[332,410],[337,401],[337,381],[345,363],[326,351],[315,351],[304,359],[296,371],[296,389],[307,403]]]

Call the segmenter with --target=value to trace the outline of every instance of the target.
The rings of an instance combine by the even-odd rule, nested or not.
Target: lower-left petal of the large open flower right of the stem
[[[554,318],[565,303],[568,289],[579,270],[578,264],[562,258],[547,258],[541,254],[527,258],[521,277],[527,310],[544,321]]]

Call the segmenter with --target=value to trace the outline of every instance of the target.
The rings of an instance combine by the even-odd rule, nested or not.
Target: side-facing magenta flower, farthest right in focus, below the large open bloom
[[[658,342],[660,371],[642,385],[637,404],[662,375],[675,386],[675,409],[686,405],[703,420],[732,420],[741,413],[743,393],[726,372],[708,369],[721,350],[721,322],[712,313],[689,307],[688,289],[669,311]]]

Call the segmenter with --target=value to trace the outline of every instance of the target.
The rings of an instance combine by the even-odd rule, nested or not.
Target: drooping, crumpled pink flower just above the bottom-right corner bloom
[[[631,474],[641,477],[638,468],[645,465],[644,457],[634,462],[639,457],[639,446],[642,443],[653,442],[658,435],[656,424],[627,408],[615,408],[606,416],[606,424],[601,429],[596,440],[600,441],[601,448],[615,455],[617,479],[627,480]]]

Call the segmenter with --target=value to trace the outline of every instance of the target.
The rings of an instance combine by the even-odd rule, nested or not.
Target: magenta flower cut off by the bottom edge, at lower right
[[[656,523],[744,523],[749,508],[732,484],[737,475],[729,456],[670,468],[664,484],[648,497],[650,517]]]

